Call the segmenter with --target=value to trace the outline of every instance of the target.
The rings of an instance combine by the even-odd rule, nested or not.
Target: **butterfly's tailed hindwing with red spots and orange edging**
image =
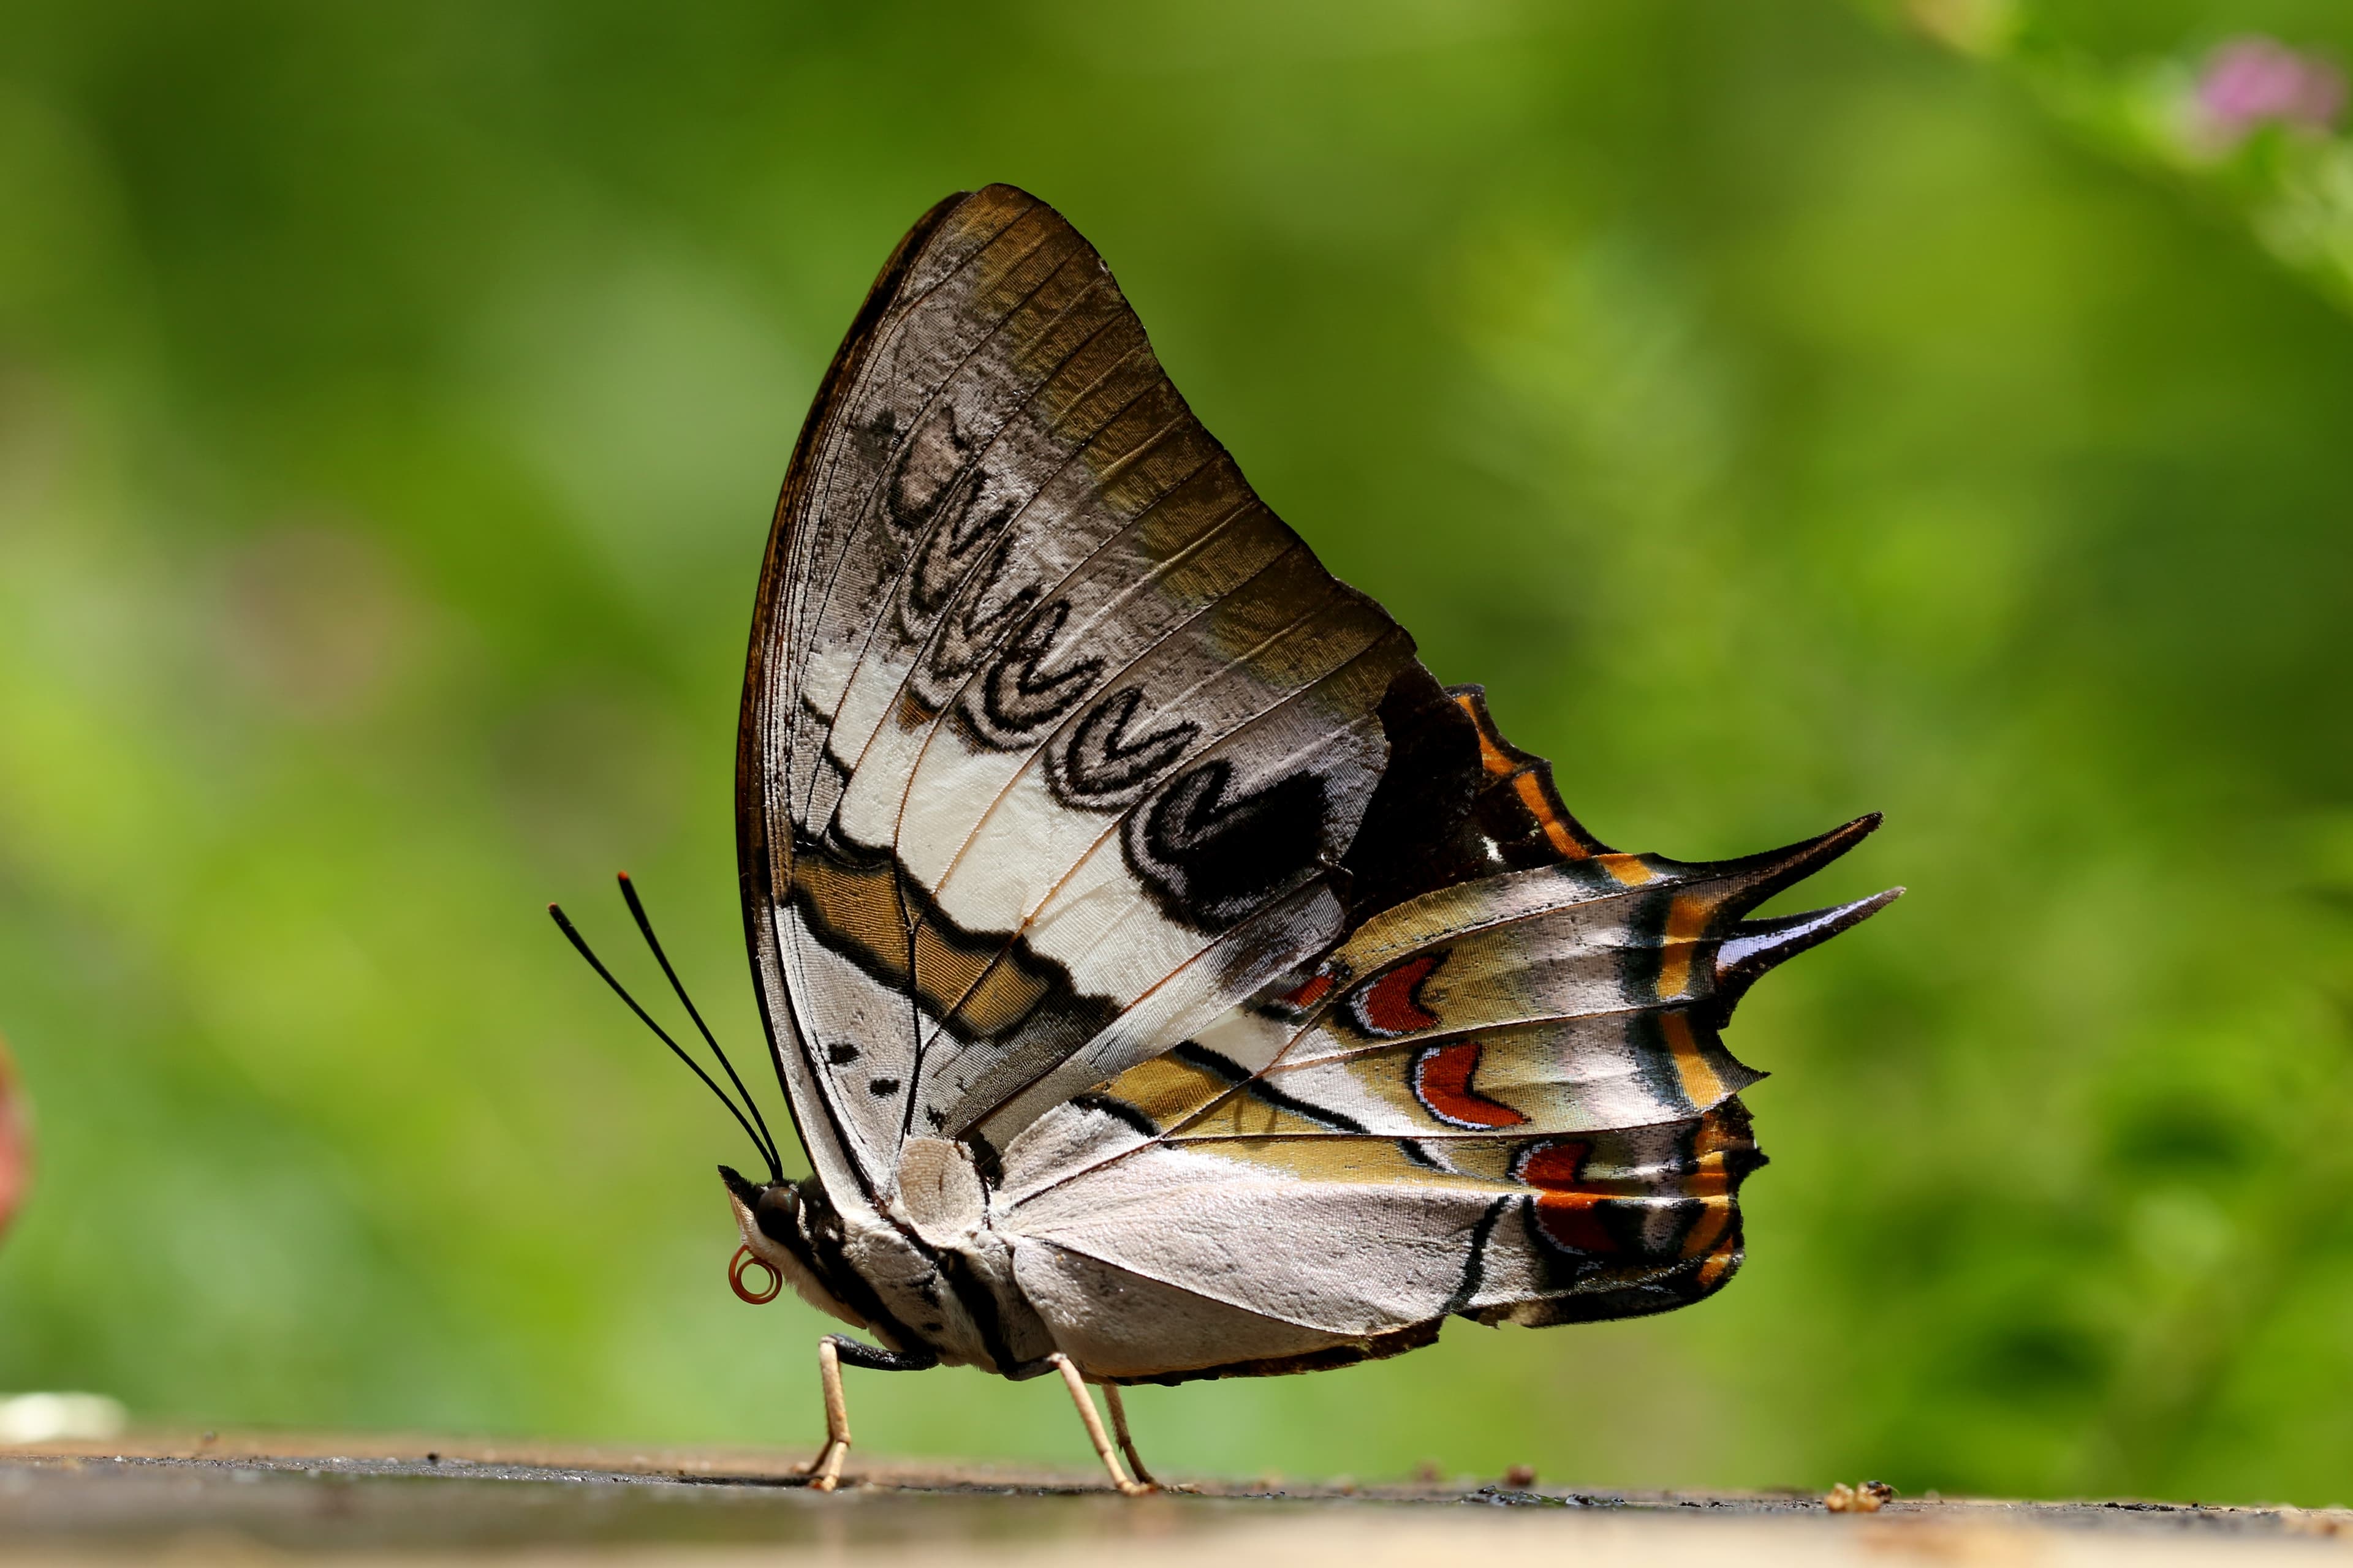
[[[1478,741],[1492,724],[1459,701]],[[1285,990],[1059,1107],[1007,1147],[1007,1227],[1365,1354],[1447,1314],[1631,1316],[1720,1288],[1762,1164],[1737,1098],[1760,1074],[1722,1018],[1760,959],[1885,898],[1746,914],[1873,820],[1746,860],[1617,856],[1546,832],[1565,813],[1506,762],[1511,811],[1480,788],[1431,827],[1515,844],[1525,870],[1372,914]],[[1172,1375],[1139,1352],[1136,1375]]]

